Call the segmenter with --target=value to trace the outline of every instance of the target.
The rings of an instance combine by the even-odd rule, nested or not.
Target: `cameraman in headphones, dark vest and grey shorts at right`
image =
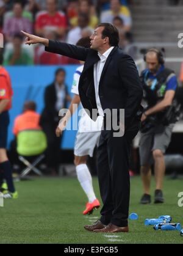
[[[151,203],[152,164],[156,179],[154,203],[163,203],[164,154],[179,117],[179,104],[175,98],[178,81],[174,71],[164,66],[162,51],[149,49],[144,59],[148,68],[142,71],[141,76],[145,112],[142,115],[140,165],[145,194],[140,203]]]

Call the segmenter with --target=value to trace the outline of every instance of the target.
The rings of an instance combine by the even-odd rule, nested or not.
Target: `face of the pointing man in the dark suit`
[[[91,49],[95,49],[96,51],[99,51],[99,49],[104,46],[106,43],[106,37],[102,38],[102,31],[104,30],[104,27],[97,27],[91,35],[90,40],[91,40]]]

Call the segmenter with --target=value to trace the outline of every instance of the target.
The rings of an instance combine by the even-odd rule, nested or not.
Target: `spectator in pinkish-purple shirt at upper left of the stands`
[[[13,36],[20,31],[32,32],[32,24],[29,19],[23,17],[23,4],[15,2],[13,4],[13,16],[7,18],[4,23],[3,33],[8,41],[11,41]]]

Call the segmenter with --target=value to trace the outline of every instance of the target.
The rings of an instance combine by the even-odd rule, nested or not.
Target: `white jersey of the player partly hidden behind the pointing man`
[[[82,73],[84,65],[77,68],[74,73],[73,86],[71,88],[71,92],[79,95],[78,85],[79,79]],[[82,107],[83,108],[83,107]],[[79,133],[91,133],[95,131],[101,131],[103,123],[103,117],[100,115],[96,122],[90,119],[87,112],[85,112],[84,108],[82,109],[81,119],[79,120]]]

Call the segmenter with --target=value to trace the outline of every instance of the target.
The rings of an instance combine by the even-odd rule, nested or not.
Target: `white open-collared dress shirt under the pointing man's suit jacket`
[[[98,108],[99,115],[104,116],[104,111],[101,106],[101,101],[99,99],[99,82],[102,75],[102,70],[104,68],[104,65],[106,64],[107,57],[109,57],[109,54],[112,52],[114,47],[110,47],[105,53],[100,54],[98,53],[98,56],[100,60],[94,65],[94,84],[95,84],[95,98],[96,98],[96,105]]]

